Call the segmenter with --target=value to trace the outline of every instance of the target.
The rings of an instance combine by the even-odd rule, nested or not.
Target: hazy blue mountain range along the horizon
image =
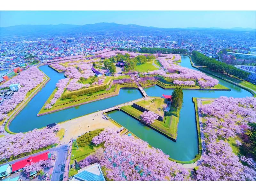
[[[229,30],[229,31],[256,31],[252,28],[235,27],[231,29],[223,28],[158,28],[158,27],[145,27],[140,25],[122,25],[116,23],[95,23],[86,25],[17,25],[12,27],[0,27],[0,36],[34,36],[34,35],[62,35],[62,34],[156,34],[168,33],[181,30],[197,30],[197,31],[213,31],[213,30]]]

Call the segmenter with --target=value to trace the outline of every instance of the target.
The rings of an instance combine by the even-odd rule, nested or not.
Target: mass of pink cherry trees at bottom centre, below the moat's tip
[[[133,136],[120,135],[114,130],[102,131],[92,139],[104,144],[100,161],[109,180],[188,180],[189,173],[160,149]]]

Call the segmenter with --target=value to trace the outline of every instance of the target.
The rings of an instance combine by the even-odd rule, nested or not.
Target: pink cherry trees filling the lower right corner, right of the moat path
[[[236,156],[227,140],[250,129],[248,122],[256,120],[256,98],[221,96],[201,107],[205,117],[206,153],[199,161],[196,180],[256,180],[252,158]],[[242,143],[236,140],[237,146]],[[241,161],[246,162],[244,165]]]

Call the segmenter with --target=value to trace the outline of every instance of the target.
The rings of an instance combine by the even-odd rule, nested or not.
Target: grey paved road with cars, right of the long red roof
[[[51,180],[60,180],[60,175],[65,173],[66,167],[61,171],[61,166],[66,164],[68,157],[68,144],[62,144],[59,147],[56,147],[53,152],[56,155],[55,165],[53,167],[52,178]],[[64,179],[64,176],[63,176]]]

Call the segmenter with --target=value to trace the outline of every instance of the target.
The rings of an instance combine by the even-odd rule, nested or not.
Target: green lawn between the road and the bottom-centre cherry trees
[[[84,158],[88,157],[92,152],[94,152],[97,148],[100,146],[95,145],[86,145],[84,147],[78,147],[78,149],[75,146],[75,143],[72,145],[72,151],[71,151],[71,159],[69,165],[74,163],[74,160],[77,162],[83,160]],[[74,155],[74,156],[73,156]],[[78,169],[69,169],[68,177],[73,176],[77,173]]]

